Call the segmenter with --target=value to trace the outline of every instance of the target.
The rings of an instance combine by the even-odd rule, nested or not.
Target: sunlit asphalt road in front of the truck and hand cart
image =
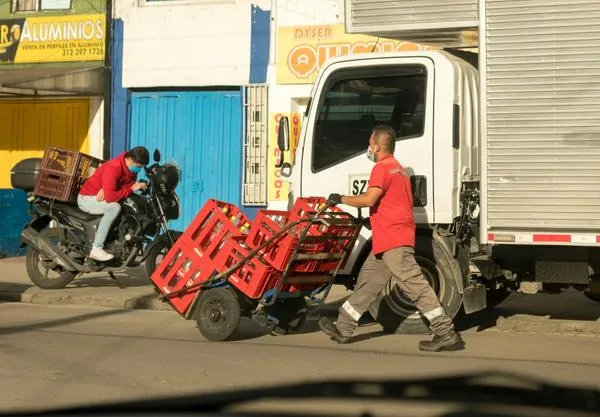
[[[418,335],[359,328],[337,345],[310,320],[274,337],[244,322],[208,342],[171,311],[0,303],[0,411],[156,398],[345,377],[423,377],[502,370],[600,388],[600,338],[466,326],[467,348],[425,354]]]

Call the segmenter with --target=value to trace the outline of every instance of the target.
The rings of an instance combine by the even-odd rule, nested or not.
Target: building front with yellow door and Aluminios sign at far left
[[[0,256],[27,221],[10,171],[53,144],[104,156],[105,0],[0,2]]]

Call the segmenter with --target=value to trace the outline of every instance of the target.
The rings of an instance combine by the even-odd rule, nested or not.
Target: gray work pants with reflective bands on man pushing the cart
[[[406,296],[415,303],[419,312],[429,321],[430,330],[438,336],[454,331],[452,319],[446,314],[437,295],[423,276],[411,247],[400,247],[375,257],[373,252],[365,261],[354,292],[339,310],[336,327],[340,333],[352,335],[358,321],[385,288],[392,276]]]

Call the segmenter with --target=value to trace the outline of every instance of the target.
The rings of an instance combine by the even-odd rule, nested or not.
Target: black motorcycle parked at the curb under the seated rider
[[[32,220],[21,233],[21,246],[28,246],[26,268],[31,281],[40,288],[60,289],[80,274],[115,273],[144,263],[150,277],[159,257],[177,241],[181,233],[169,229],[168,221],[181,215],[175,192],[180,169],[160,164],[160,152],[154,151],[154,164],[145,168],[148,187],[121,201],[121,213],[113,223],[105,249],[114,255],[108,262],[88,257],[101,216],[82,211],[76,203],[57,202],[35,196],[33,187],[19,188],[29,193]],[[15,170],[13,168],[13,176]],[[141,259],[140,259],[141,258]],[[52,273],[52,277],[49,275]]]

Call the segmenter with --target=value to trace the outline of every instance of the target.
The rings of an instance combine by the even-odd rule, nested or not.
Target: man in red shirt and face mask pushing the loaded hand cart
[[[399,288],[429,321],[434,334],[433,340],[420,342],[419,348],[435,352],[454,350],[464,342],[415,260],[416,226],[410,177],[394,158],[395,144],[394,130],[377,126],[367,150],[367,157],[376,162],[367,192],[358,196],[329,196],[330,204],[370,207],[373,250],[360,271],[354,292],[340,308],[337,321],[322,318],[319,327],[338,343],[347,343],[362,315],[393,275]]]

